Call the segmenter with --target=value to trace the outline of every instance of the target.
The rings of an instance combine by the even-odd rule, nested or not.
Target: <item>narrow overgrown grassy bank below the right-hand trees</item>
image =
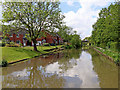
[[[97,50],[99,50],[103,54],[111,57],[116,64],[118,64],[118,63],[120,64],[120,60],[119,60],[120,53],[118,53],[117,51],[113,51],[110,49],[103,49],[103,48],[95,47],[95,46],[94,46],[94,48],[96,48]]]

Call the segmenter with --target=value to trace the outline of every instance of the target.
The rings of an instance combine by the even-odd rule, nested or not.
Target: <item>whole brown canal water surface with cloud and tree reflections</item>
[[[71,49],[2,68],[2,88],[118,88],[118,67],[93,49]]]

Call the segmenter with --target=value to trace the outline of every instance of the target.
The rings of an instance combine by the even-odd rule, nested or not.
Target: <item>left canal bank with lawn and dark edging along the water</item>
[[[18,63],[30,58],[55,53],[62,50],[61,47],[63,47],[63,45],[38,47],[39,52],[33,51],[32,47],[1,47],[2,59],[8,64]]]

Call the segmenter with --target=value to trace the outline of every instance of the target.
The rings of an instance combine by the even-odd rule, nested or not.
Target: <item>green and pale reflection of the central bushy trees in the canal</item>
[[[62,69],[62,73],[77,65],[76,59],[79,59],[81,50],[65,50],[63,54],[64,56],[58,61],[58,64],[60,65],[59,68]]]

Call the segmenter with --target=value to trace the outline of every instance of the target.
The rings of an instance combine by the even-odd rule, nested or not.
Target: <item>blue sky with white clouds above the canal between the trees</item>
[[[92,25],[96,22],[100,10],[114,3],[115,0],[60,0],[60,2],[62,14],[65,15],[64,22],[76,30],[81,39],[84,39],[91,35]]]

